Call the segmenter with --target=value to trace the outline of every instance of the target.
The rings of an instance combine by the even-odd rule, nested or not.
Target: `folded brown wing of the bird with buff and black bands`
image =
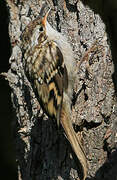
[[[41,57],[42,55],[39,56]],[[50,117],[54,117],[59,126],[63,91],[68,86],[67,69],[64,65],[63,55],[60,49],[52,41],[48,42],[48,46],[46,44],[43,58],[39,58],[39,56],[38,61],[41,59],[41,62],[36,63],[35,60],[35,64],[41,66],[41,68],[37,68],[39,77],[36,80],[39,99],[46,113]],[[39,73],[40,70],[43,71],[43,76]],[[42,84],[39,82],[39,79],[42,80]]]

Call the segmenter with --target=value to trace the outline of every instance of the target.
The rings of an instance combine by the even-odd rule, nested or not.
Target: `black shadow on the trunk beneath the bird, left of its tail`
[[[32,128],[31,178],[47,180],[57,179],[58,176],[61,176],[63,179],[69,180],[71,168],[78,170],[79,176],[82,177],[80,163],[65,138],[62,127],[57,129],[56,124],[52,121],[51,119],[43,120],[41,117],[35,121]],[[70,153],[73,159],[70,158]],[[47,163],[46,167],[44,167],[45,162]],[[61,169],[61,167],[63,168]],[[45,179],[43,179],[42,172],[45,172]]]

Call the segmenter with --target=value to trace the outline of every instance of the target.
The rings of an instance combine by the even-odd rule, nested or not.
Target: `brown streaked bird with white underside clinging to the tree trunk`
[[[50,10],[49,10],[50,11]],[[44,112],[62,125],[87,177],[87,159],[71,121],[75,60],[66,38],[44,17],[31,21],[22,33],[23,65]]]

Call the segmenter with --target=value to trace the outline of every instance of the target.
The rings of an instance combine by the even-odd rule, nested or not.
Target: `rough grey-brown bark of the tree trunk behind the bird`
[[[27,80],[22,65],[21,34],[41,11],[46,0],[7,0],[11,68],[3,75],[12,89],[16,112],[16,153],[18,179],[68,180],[80,176],[79,165],[62,127],[49,119]],[[98,8],[76,0],[51,1],[48,21],[68,38],[77,62],[77,81],[72,106],[74,130],[83,143],[89,179],[117,178],[116,64],[106,32],[103,4]],[[53,11],[54,10],[54,11]],[[80,63],[82,62],[82,63]],[[116,78],[115,78],[116,79]],[[77,96],[77,98],[76,98]],[[93,177],[93,178],[92,178]]]

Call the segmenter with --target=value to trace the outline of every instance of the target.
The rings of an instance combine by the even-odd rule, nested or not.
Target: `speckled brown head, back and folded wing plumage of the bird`
[[[68,88],[63,55],[57,44],[46,35],[39,18],[26,27],[22,39],[27,43],[23,59],[25,70],[43,109],[59,125],[63,92]]]

